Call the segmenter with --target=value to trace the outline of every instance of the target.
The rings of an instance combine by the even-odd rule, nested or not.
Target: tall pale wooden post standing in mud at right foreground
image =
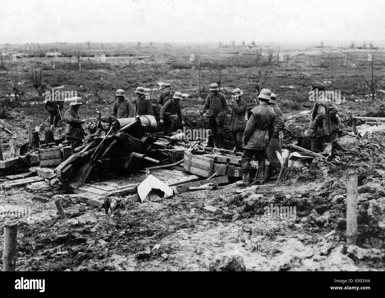
[[[346,244],[357,243],[357,165],[349,165],[346,193]]]

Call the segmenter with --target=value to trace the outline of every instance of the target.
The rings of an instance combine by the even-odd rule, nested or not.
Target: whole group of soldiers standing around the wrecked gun
[[[137,95],[135,109],[131,101],[125,98],[123,89],[115,93],[115,101],[112,114],[116,119],[131,118],[137,115],[154,115],[159,124],[167,127],[167,133],[176,131],[177,125],[184,125],[179,102],[182,99],[180,92],[171,93],[170,84],[165,85],[165,90],[159,95],[156,106],[152,106],[151,100],[144,88],[137,87],[134,91]],[[323,90],[325,85],[313,82],[310,89]],[[219,92],[218,84],[210,85],[211,93],[204,104],[204,116],[208,122],[213,136],[214,147],[224,148],[224,121],[229,112],[229,104],[224,94]],[[242,181],[238,185],[250,183],[250,163],[254,159],[258,161],[258,171],[254,184],[264,184],[268,176],[274,176],[280,171],[280,161],[276,151],[281,154],[281,138],[285,128],[282,111],[277,104],[277,96],[269,89],[262,89],[258,94],[259,105],[251,109],[246,115],[247,103],[242,98],[243,91],[235,88],[232,92],[231,115],[229,118],[229,130],[235,141],[235,152],[242,152]],[[71,142],[72,148],[80,146],[84,138],[79,119],[79,107],[82,105],[79,97],[71,99],[70,108],[65,112],[66,140]],[[155,111],[155,112],[154,112]],[[309,128],[306,132],[311,140],[311,150],[322,152],[325,142],[331,142],[340,130],[341,121],[338,118],[338,109],[332,101],[315,101]],[[51,116],[52,119],[52,116]],[[51,120],[52,121],[52,120]],[[57,121],[55,121],[55,124]],[[269,167],[266,167],[266,157]],[[267,170],[268,169],[268,170]]]

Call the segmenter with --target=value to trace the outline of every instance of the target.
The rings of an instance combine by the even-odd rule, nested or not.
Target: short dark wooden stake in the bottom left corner
[[[15,271],[17,253],[17,221],[4,222],[3,271]]]

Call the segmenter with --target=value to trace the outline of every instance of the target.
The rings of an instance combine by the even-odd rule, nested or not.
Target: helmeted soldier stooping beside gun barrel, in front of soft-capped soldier
[[[176,131],[178,119],[181,121],[182,125],[184,125],[184,121],[181,113],[181,106],[179,105],[179,101],[182,99],[182,93],[176,92],[172,99],[167,101],[161,108],[160,111],[160,121],[162,124],[163,121],[166,124],[166,127],[169,128],[167,134],[170,134],[170,131]]]

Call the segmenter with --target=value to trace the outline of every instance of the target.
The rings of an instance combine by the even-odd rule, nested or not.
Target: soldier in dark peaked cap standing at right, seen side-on
[[[322,91],[322,95],[325,85],[321,82],[312,82],[310,91],[315,92],[316,89],[318,89],[319,92]],[[317,93],[315,92],[315,94]],[[316,96],[318,96],[318,94]],[[323,98],[320,96],[320,98],[315,98],[309,128],[306,133],[306,136],[310,138],[311,141],[311,151],[316,153],[323,152],[325,140],[329,140],[330,135],[331,128],[329,104],[327,99],[325,99],[325,96]]]

